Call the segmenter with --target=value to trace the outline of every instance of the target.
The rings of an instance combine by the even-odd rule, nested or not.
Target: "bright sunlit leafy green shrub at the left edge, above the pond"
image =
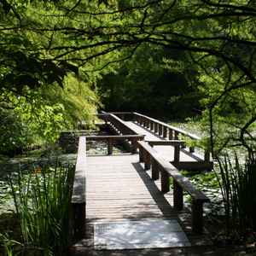
[[[2,100],[6,102],[4,108],[1,108],[3,152],[26,148],[33,143],[34,137],[42,137],[47,143],[55,143],[61,131],[68,127],[63,118],[63,105],[50,104],[36,91],[28,90],[23,96],[5,93]]]

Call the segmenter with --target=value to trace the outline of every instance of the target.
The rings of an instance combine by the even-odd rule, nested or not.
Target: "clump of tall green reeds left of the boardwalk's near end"
[[[11,179],[10,179],[11,181]],[[73,167],[44,168],[11,182],[23,247],[20,255],[68,255]]]

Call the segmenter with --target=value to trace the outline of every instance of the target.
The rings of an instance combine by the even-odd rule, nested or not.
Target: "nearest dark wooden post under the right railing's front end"
[[[192,232],[195,235],[203,233],[203,201],[195,201],[192,203]]]

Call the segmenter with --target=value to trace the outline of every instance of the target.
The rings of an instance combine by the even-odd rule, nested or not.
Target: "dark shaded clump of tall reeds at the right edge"
[[[227,235],[241,239],[256,232],[256,159],[249,154],[244,165],[237,155],[232,163],[229,155],[218,160],[226,216]],[[256,241],[256,238],[254,238]]]

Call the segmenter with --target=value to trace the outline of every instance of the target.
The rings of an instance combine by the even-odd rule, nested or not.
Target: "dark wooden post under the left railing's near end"
[[[75,238],[84,238],[86,236],[86,225],[85,225],[85,202],[74,203],[73,206],[73,236]]]

